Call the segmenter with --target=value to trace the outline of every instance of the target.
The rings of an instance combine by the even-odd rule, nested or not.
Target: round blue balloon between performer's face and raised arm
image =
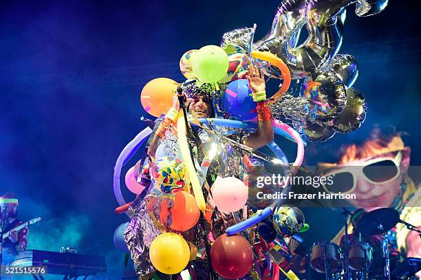
[[[257,117],[256,103],[246,79],[233,80],[228,84],[222,96],[222,107],[230,117],[239,120],[252,120]]]

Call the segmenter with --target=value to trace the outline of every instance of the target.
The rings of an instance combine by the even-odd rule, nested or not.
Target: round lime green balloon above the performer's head
[[[193,74],[203,83],[216,83],[226,75],[228,54],[217,45],[206,45],[191,58]]]

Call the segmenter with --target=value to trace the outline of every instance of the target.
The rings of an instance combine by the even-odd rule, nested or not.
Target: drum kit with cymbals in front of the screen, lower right
[[[351,213],[347,209],[343,209],[345,214],[345,233],[347,233],[347,215]],[[398,260],[390,257],[390,242],[387,232],[396,226],[398,222],[405,224],[410,230],[417,231],[421,237],[421,231],[418,228],[400,220],[398,211],[393,208],[379,208],[365,213],[358,220],[356,231],[359,233],[360,238],[348,241],[349,238],[345,234],[345,244],[342,248],[330,241],[314,243],[307,256],[296,262],[295,269],[302,272],[307,270],[308,279],[319,279],[321,274],[325,274],[326,280],[416,279],[413,274],[418,271],[417,269],[421,269],[421,259],[409,258],[411,261],[408,261],[408,259],[396,266],[393,273],[390,270],[391,262],[395,263],[396,261],[396,264],[398,264]],[[369,244],[361,241],[361,236],[373,237],[375,235],[381,235],[379,244]],[[374,254],[374,252],[378,253]],[[411,274],[400,273],[400,270],[408,271],[410,269],[407,267],[408,263],[412,264],[411,269],[415,272]],[[294,266],[292,269],[294,270]],[[319,277],[312,275],[312,270],[319,272]]]

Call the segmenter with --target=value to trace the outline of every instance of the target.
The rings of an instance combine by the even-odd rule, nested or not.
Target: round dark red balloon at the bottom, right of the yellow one
[[[244,237],[224,233],[210,249],[210,259],[219,275],[227,279],[238,279],[252,268],[253,250]]]

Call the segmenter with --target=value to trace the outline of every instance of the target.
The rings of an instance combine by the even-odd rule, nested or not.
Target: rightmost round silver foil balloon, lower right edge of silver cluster
[[[347,105],[341,114],[333,120],[332,130],[339,133],[349,133],[358,129],[365,120],[367,104],[363,94],[357,89],[347,89]]]

